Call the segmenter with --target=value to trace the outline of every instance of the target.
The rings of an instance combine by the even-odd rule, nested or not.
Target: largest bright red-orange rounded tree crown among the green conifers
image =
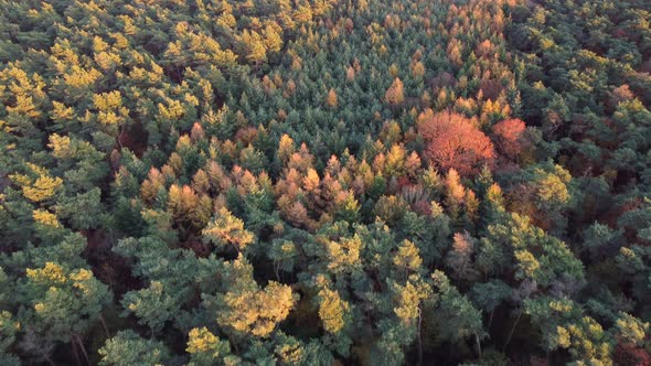
[[[444,170],[476,174],[483,164],[492,165],[495,158],[491,140],[462,115],[421,114],[418,132],[427,143],[425,158]]]

